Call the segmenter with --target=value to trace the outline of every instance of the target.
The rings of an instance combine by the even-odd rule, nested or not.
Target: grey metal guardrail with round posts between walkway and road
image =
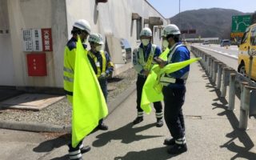
[[[222,98],[226,97],[227,86],[229,86],[227,109],[235,110],[235,96],[240,99],[239,128],[247,130],[248,118],[256,116],[256,82],[250,81],[249,86],[249,78],[194,46],[190,46],[190,49],[196,57],[202,58],[201,66],[206,70],[210,81],[217,85],[216,89],[221,91]]]

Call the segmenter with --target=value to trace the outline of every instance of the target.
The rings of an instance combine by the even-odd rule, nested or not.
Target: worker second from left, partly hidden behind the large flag
[[[88,58],[107,102],[107,78],[112,74],[114,65],[113,62],[111,62],[110,55],[102,50],[104,42],[101,34],[90,34],[88,41],[90,43]],[[97,128],[99,130],[108,130],[108,126],[103,123],[103,119],[98,122]]]

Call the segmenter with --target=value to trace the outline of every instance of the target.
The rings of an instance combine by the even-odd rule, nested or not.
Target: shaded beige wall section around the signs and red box
[[[15,86],[62,86],[63,50],[66,43],[66,4],[63,0],[8,1]],[[29,77],[22,51],[22,29],[51,28],[53,51],[46,52],[47,76]]]

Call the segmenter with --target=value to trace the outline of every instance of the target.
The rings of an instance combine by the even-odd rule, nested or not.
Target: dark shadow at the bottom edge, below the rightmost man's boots
[[[150,150],[141,150],[138,152],[132,151],[128,152],[123,157],[116,157],[114,160],[133,160],[133,159],[140,159],[140,160],[166,160],[169,158],[174,157],[174,155],[170,155],[167,153],[167,147],[163,146],[160,148],[154,148]]]

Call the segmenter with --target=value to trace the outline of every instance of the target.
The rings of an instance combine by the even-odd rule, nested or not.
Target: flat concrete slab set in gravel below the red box
[[[42,110],[54,102],[58,102],[64,96],[50,94],[21,94],[0,102],[0,107],[26,110]]]

